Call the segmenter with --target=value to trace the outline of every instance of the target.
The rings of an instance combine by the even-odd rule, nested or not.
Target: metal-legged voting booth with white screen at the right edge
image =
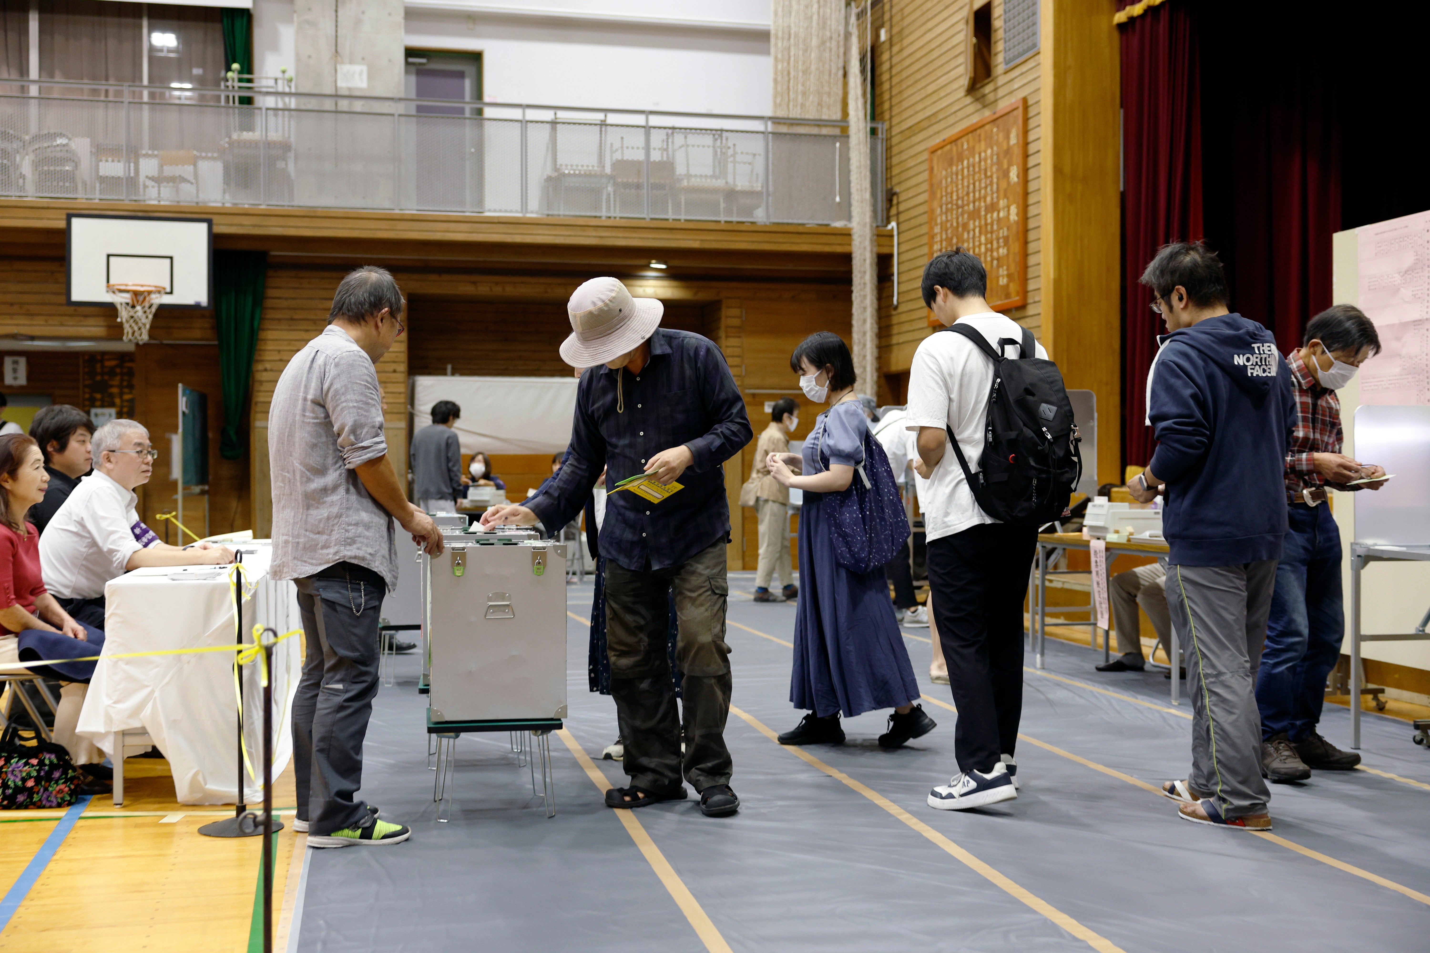
[[[1394,474],[1380,490],[1354,494],[1356,540],[1350,544],[1350,746],[1360,747],[1360,697],[1369,694],[1361,643],[1427,640],[1427,612],[1414,632],[1367,633],[1361,624],[1361,573],[1373,563],[1430,563],[1430,407],[1356,409],[1356,459]],[[1421,593],[1430,587],[1420,589]],[[1419,607],[1417,607],[1419,609]],[[1423,743],[1416,726],[1414,739]]]

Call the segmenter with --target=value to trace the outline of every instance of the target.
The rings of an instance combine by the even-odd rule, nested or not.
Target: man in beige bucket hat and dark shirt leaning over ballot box
[[[631,297],[611,277],[586,281],[566,306],[572,333],[561,357],[585,367],[576,386],[569,457],[542,490],[498,506],[483,526],[565,526],[606,467],[606,487],[628,477],[681,489],[659,503],[609,493],[601,526],[606,559],[606,643],[622,766],[631,787],[606,792],[611,807],[682,800],[684,774],[709,817],[739,810],[725,747],[729,646],[725,643],[725,546],[729,504],[721,464],[754,437],[745,401],[714,341],[661,327],[655,299]],[[684,673],[676,712],[666,654],[668,596],[679,620]],[[685,754],[681,754],[681,740]]]

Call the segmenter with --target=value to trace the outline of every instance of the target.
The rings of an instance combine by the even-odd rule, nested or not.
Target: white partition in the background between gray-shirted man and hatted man
[[[432,404],[452,400],[462,407],[455,427],[462,453],[561,453],[571,443],[576,383],[575,377],[413,377],[412,431],[432,423]]]

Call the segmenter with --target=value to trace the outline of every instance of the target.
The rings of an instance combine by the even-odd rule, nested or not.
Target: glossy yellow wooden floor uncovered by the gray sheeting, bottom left
[[[262,949],[255,932],[259,839],[199,834],[200,826],[230,816],[232,809],[180,804],[164,760],[129,759],[124,793],[122,809],[107,796],[90,800],[0,933],[0,950]],[[275,784],[275,807],[285,822],[293,817],[293,800],[289,770]],[[63,810],[0,816],[0,896],[63,816]],[[275,920],[295,837],[290,827],[276,836]]]

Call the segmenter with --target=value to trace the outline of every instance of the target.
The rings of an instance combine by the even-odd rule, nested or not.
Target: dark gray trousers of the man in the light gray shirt
[[[368,804],[355,794],[378,694],[378,623],[386,586],[360,566],[350,566],[346,576],[295,580],[307,654],[293,696],[293,782],[297,816],[312,834],[368,819]]]

